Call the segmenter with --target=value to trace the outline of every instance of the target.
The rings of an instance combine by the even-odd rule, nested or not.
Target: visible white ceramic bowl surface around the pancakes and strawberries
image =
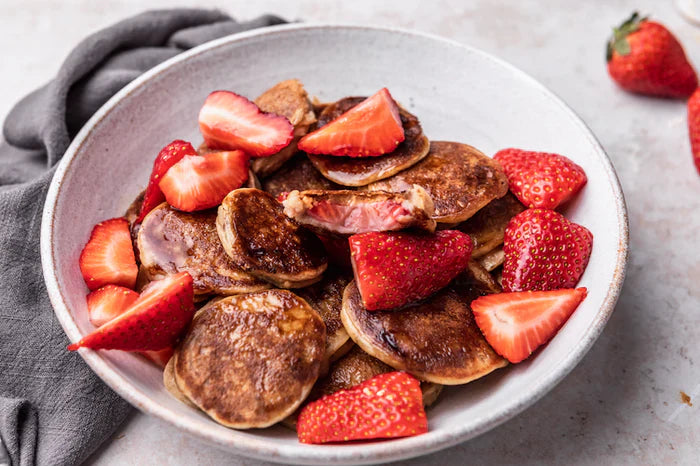
[[[445,390],[428,412],[430,432],[350,445],[302,445],[284,427],[235,431],[179,403],[161,372],[118,351],[80,350],[92,369],[142,411],[232,452],[283,463],[362,464],[426,454],[515,416],[557,384],[591,347],[613,311],[627,259],[627,214],[615,171],[576,114],[541,84],[488,54],[416,32],[357,26],[287,25],[223,38],[145,73],[105,104],[61,161],[44,208],[41,255],[56,315],[72,341],[89,332],[78,256],[92,226],[121,215],[145,186],[153,157],[176,138],[201,140],[197,113],[209,92],[255,97],[299,78],[321,100],[387,86],[429,138],[563,153],[588,185],[566,215],[595,244],[581,286],[588,298],[527,362]]]

